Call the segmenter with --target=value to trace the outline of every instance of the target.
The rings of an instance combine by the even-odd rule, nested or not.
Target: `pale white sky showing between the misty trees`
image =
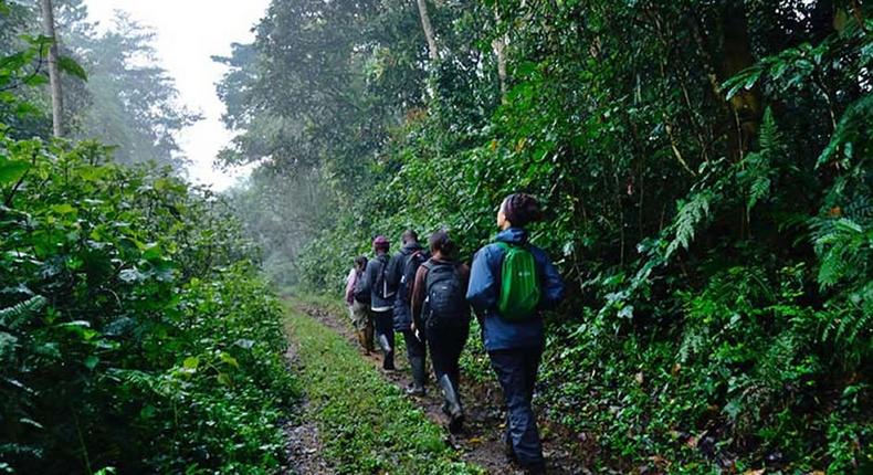
[[[221,123],[224,105],[215,93],[225,66],[213,55],[230,55],[231,43],[254,39],[252,27],[266,12],[270,0],[85,0],[92,21],[112,24],[116,10],[155,29],[160,65],[176,80],[180,103],[204,119],[182,131],[180,145],[191,160],[189,178],[224,190],[248,169],[215,170],[213,159],[233,138]]]

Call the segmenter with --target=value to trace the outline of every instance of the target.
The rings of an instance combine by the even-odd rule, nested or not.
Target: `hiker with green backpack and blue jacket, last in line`
[[[497,212],[496,242],[473,258],[466,298],[481,319],[482,338],[507,407],[507,455],[528,473],[545,460],[532,409],[545,346],[541,310],[564,298],[564,282],[546,253],[528,244],[525,226],[540,219],[529,194],[506,197]]]

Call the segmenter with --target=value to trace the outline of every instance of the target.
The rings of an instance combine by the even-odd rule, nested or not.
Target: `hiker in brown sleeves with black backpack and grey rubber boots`
[[[414,335],[428,342],[449,431],[456,434],[464,423],[459,360],[470,335],[470,305],[465,298],[470,268],[457,262],[457,246],[448,232],[433,233],[429,244],[432,257],[419,267],[412,286]]]

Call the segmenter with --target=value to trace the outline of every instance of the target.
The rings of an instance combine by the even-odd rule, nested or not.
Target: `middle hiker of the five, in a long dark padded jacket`
[[[428,261],[430,255],[421,244],[416,231],[407,230],[401,236],[403,247],[391,257],[388,266],[388,285],[397,289],[395,299],[395,329],[403,335],[407,347],[407,358],[412,370],[412,383],[407,388],[407,394],[424,395],[428,383],[427,346],[423,340],[416,338],[412,332],[412,314],[410,313],[409,298],[412,292],[412,281],[419,266]]]

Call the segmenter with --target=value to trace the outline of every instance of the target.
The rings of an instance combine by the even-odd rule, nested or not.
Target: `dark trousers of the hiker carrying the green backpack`
[[[507,408],[506,440],[528,469],[545,466],[536,415],[532,407],[541,347],[488,351]]]

